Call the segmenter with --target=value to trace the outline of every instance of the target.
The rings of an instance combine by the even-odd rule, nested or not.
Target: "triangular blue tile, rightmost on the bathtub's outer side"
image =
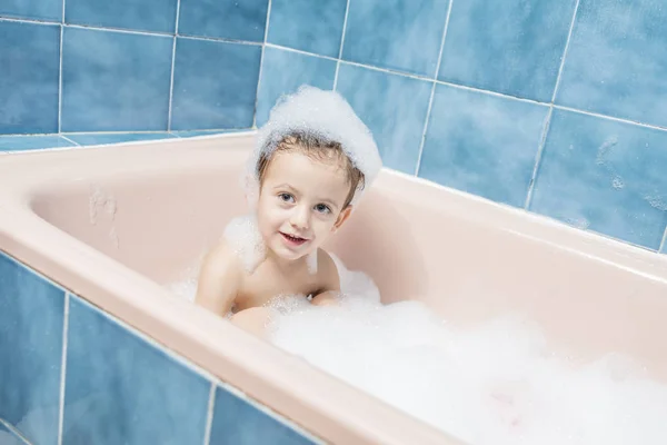
[[[228,390],[216,389],[210,445],[302,445],[308,437],[257,409]]]

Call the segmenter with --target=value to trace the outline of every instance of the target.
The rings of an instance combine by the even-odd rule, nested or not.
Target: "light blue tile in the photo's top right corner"
[[[667,126],[667,8],[581,0],[556,102]]]

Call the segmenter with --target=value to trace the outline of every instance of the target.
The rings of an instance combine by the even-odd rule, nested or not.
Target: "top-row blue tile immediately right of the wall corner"
[[[267,41],[338,58],[347,0],[273,0]]]

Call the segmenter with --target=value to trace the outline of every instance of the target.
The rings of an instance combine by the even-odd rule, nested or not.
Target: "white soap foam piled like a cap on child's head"
[[[290,96],[281,97],[258,131],[257,144],[243,175],[248,200],[253,206],[259,198],[260,158],[273,154],[288,136],[315,137],[327,144],[338,142],[342,151],[364,174],[364,188],[358,188],[351,202],[356,204],[377,177],[382,161],[370,130],[350,105],[337,92],[302,86]]]

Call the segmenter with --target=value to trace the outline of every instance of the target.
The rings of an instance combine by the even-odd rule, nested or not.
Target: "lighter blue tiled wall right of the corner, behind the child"
[[[340,91],[386,166],[667,251],[667,8],[272,0],[257,125]]]

